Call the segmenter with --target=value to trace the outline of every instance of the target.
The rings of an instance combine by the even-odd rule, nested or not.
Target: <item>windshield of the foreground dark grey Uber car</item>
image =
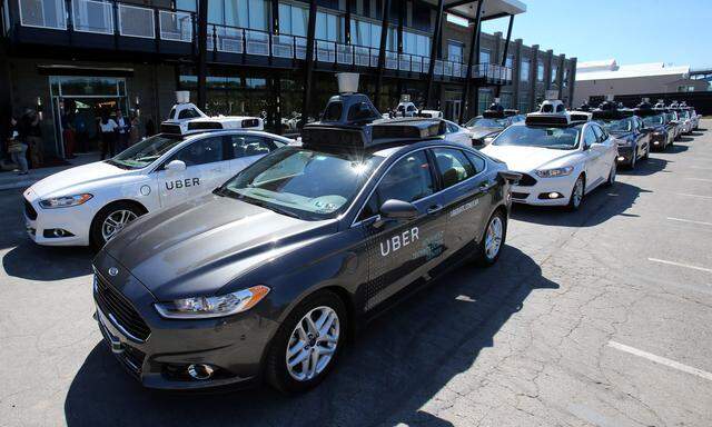
[[[305,220],[334,218],[383,160],[284,147],[243,170],[218,193]]]

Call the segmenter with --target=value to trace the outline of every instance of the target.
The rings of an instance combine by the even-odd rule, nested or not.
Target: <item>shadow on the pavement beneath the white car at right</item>
[[[545,226],[594,227],[606,220],[625,215],[642,190],[625,182],[615,182],[613,187],[599,187],[584,198],[577,211],[570,212],[562,207],[515,205],[512,218]]]

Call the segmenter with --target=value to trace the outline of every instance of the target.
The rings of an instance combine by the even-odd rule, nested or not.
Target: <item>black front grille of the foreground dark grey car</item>
[[[101,311],[111,316],[123,331],[130,334],[132,338],[145,341],[151,334],[150,328],[141,316],[136,311],[129,301],[123,298],[111,285],[101,276],[95,275],[97,286],[97,302]]]

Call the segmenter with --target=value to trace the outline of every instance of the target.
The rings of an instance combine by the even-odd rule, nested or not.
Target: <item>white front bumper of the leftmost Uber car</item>
[[[89,228],[95,214],[92,200],[78,207],[58,209],[43,209],[34,191],[24,191],[24,229],[32,241],[46,246],[89,245]],[[63,235],[56,237],[55,230],[62,230]]]

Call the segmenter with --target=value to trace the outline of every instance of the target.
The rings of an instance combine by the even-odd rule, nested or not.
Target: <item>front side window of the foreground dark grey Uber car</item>
[[[425,151],[416,151],[398,160],[383,177],[370,196],[359,219],[378,214],[380,206],[389,199],[416,201],[435,192],[431,165]]]

